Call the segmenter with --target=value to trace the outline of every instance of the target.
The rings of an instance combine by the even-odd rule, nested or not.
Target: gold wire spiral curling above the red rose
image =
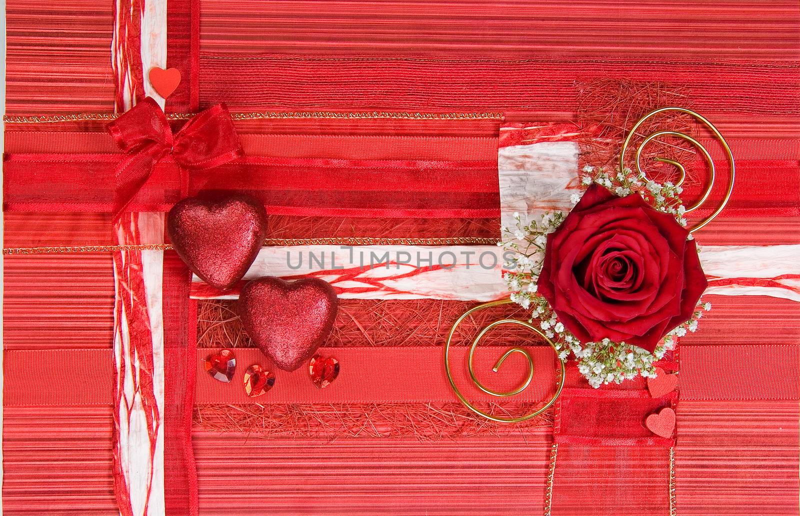
[[[712,220],[714,220],[722,212],[722,210],[725,209],[726,205],[728,204],[728,201],[730,200],[730,194],[734,190],[734,181],[736,180],[736,163],[734,163],[734,155],[730,151],[730,146],[728,145],[728,142],[726,142],[726,139],[722,136],[717,127],[714,127],[713,123],[710,123],[708,119],[706,119],[699,113],[692,111],[690,109],[686,109],[686,107],[659,107],[658,109],[650,111],[650,113],[644,115],[641,119],[639,119],[637,123],[634,123],[634,127],[630,128],[630,132],[628,133],[625,139],[625,143],[622,143],[622,149],[620,149],[619,151],[619,169],[623,170],[625,168],[626,151],[628,150],[628,146],[630,145],[630,140],[634,138],[634,135],[636,135],[636,130],[639,127],[641,127],[642,123],[645,123],[648,119],[654,117],[655,115],[664,113],[666,111],[678,111],[679,113],[685,113],[686,115],[691,115],[699,122],[701,122],[703,125],[705,125],[708,128],[708,130],[711,131],[714,134],[714,136],[716,136],[719,143],[722,145],[722,148],[725,149],[728,158],[728,163],[729,163],[728,189],[725,193],[725,196],[722,198],[722,201],[718,205],[717,209],[715,209],[714,212],[710,214],[710,216],[707,216],[705,219],[701,220],[697,224],[694,224],[694,227],[689,230],[690,233],[694,233],[699,229],[706,227],[707,224],[709,224]],[[708,200],[708,197],[711,195],[711,188],[714,187],[714,180],[716,179],[717,176],[717,169],[714,166],[714,159],[711,159],[711,155],[709,154],[709,151],[706,150],[706,147],[703,147],[702,143],[698,142],[698,140],[692,138],[690,135],[686,135],[678,131],[657,131],[651,135],[647,135],[645,139],[642,140],[642,143],[639,143],[638,147],[636,147],[636,153],[634,155],[634,163],[636,164],[636,171],[647,180],[650,179],[647,177],[645,171],[642,170],[642,151],[644,150],[644,148],[647,146],[648,143],[652,142],[654,139],[657,139],[661,136],[673,136],[675,138],[686,140],[687,142],[694,145],[694,147],[697,147],[702,152],[703,157],[706,159],[710,177],[708,180],[708,184],[706,185],[706,188],[702,193],[702,196],[700,196],[700,199],[697,200],[697,202],[695,202],[690,207],[686,208],[686,213],[693,212],[694,210],[700,208],[703,204],[705,204],[706,200]],[[678,168],[678,181],[675,182],[675,186],[679,187],[683,184],[683,182],[686,180],[686,168],[684,168],[681,163],[678,163],[674,159],[667,159],[662,157],[656,157],[654,159],[661,163],[668,163]]]

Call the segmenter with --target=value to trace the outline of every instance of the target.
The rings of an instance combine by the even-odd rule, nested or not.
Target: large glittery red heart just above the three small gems
[[[337,308],[334,288],[316,278],[253,280],[242,288],[238,303],[250,339],[285,371],[314,355],[333,328]]]

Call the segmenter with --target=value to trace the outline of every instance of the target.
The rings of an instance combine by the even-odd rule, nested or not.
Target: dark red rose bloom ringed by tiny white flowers
[[[706,290],[694,240],[637,194],[592,184],[547,236],[538,292],[582,342],[609,338],[653,352]]]

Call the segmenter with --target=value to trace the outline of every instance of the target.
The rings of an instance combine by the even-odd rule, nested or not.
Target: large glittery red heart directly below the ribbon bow
[[[166,220],[172,247],[186,266],[214,288],[234,287],[266,239],[266,212],[257,200],[184,199]]]

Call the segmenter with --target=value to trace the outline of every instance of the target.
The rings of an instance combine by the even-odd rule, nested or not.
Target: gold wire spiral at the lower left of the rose
[[[468,316],[470,316],[474,312],[478,312],[478,310],[483,310],[485,308],[491,308],[494,306],[499,306],[502,304],[510,304],[510,303],[513,303],[513,301],[498,300],[498,301],[490,301],[488,303],[478,304],[478,306],[470,308],[469,310],[464,312],[462,316],[458,317],[458,319],[455,321],[453,327],[450,329],[450,333],[447,335],[447,341],[445,342],[444,346],[445,372],[447,374],[447,379],[450,381],[450,386],[453,388],[453,392],[455,393],[456,397],[458,397],[458,400],[461,401],[462,404],[466,406],[467,409],[470,409],[474,413],[477,413],[479,416],[486,417],[486,419],[490,419],[491,421],[496,421],[498,423],[518,423],[520,421],[526,421],[532,417],[536,417],[539,414],[543,413],[546,409],[550,408],[550,405],[554,404],[558,396],[561,394],[561,391],[564,388],[564,380],[566,378],[566,368],[564,366],[564,361],[558,358],[558,349],[556,349],[553,341],[550,341],[550,339],[547,338],[547,336],[544,333],[542,333],[534,325],[531,325],[530,323],[524,320],[499,319],[495,320],[494,322],[490,323],[489,325],[486,325],[483,329],[481,329],[481,331],[478,332],[478,335],[472,341],[472,345],[470,345],[470,353],[468,355],[468,367],[469,367],[470,377],[472,378],[474,385],[478,387],[478,389],[481,389],[484,393],[490,394],[491,396],[495,397],[514,396],[514,394],[522,393],[522,391],[527,389],[527,387],[530,385],[530,382],[534,378],[534,359],[533,357],[530,356],[530,353],[528,353],[525,349],[522,348],[511,348],[507,350],[506,353],[503,353],[502,357],[500,357],[500,359],[494,365],[494,368],[492,368],[492,370],[495,373],[497,373],[502,363],[506,361],[506,358],[510,357],[510,355],[514,353],[522,354],[522,356],[524,356],[528,361],[528,377],[526,381],[523,381],[522,384],[519,385],[516,389],[512,389],[508,392],[498,392],[493,389],[489,389],[488,387],[486,387],[486,385],[483,385],[480,381],[478,381],[478,377],[475,375],[473,368],[473,357],[475,349],[478,347],[478,344],[480,343],[483,336],[486,335],[486,333],[488,333],[491,329],[494,329],[500,325],[518,325],[521,326],[522,328],[530,330],[531,332],[537,333],[547,342],[547,344],[550,345],[551,348],[553,348],[554,353],[556,353],[556,360],[558,360],[558,364],[561,365],[561,377],[558,381],[558,388],[556,389],[556,392],[554,393],[553,397],[551,397],[550,400],[547,401],[547,403],[543,405],[541,408],[534,410],[534,412],[527,413],[518,417],[501,417],[501,416],[495,416],[494,414],[478,409],[478,407],[473,405],[469,400],[466,399],[466,397],[464,397],[464,395],[461,393],[461,390],[458,389],[458,385],[455,385],[453,372],[450,369],[450,344],[453,341],[454,334],[458,330],[458,326],[461,325],[462,322]]]

